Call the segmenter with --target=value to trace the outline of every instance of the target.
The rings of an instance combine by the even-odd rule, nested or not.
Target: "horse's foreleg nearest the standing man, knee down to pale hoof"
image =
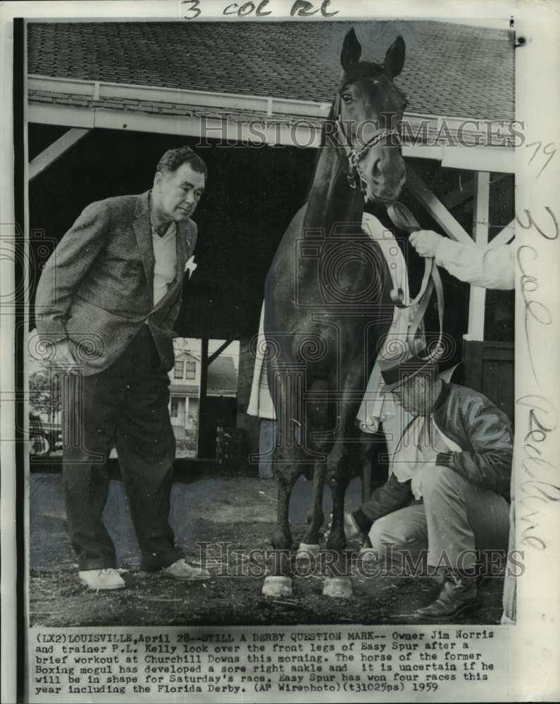
[[[264,596],[290,596],[292,594],[292,577],[290,558],[292,551],[292,532],[290,531],[290,496],[294,484],[301,474],[299,465],[294,462],[294,452],[276,448],[275,474],[278,477],[278,513],[273,534],[273,553],[269,574],[265,577],[262,593]]]

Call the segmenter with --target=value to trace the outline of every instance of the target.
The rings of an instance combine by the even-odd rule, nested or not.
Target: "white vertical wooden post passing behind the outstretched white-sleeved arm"
[[[488,218],[490,213],[490,173],[475,174],[475,203],[473,213],[473,237],[479,247],[488,245]],[[468,298],[468,339],[484,340],[486,289],[471,286]]]

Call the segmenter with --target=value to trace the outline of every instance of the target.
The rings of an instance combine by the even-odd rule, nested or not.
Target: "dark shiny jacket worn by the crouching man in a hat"
[[[436,464],[509,501],[514,439],[506,414],[478,391],[443,382],[432,415],[437,428],[461,448],[460,452],[437,453]],[[410,484],[391,474],[352,514],[356,525],[367,531],[378,518],[409,505],[413,499]]]

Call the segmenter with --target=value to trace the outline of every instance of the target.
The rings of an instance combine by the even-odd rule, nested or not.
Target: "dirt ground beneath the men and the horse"
[[[170,522],[178,543],[192,563],[199,562],[200,549],[206,549],[207,556],[213,558],[207,565],[211,579],[185,583],[161,574],[146,574],[138,567],[122,484],[111,484],[105,519],[118,547],[119,567],[127,588],[95,593],[77,579],[61,503],[60,477],[32,481],[29,608],[33,626],[397,624],[415,622],[413,610],[437,595],[438,586],[429,578],[396,577],[386,572],[365,577],[354,570],[353,598],[327,598],[322,595],[319,570],[308,569],[294,579],[291,597],[263,597],[260,575],[265,563],[258,556],[249,562],[247,553],[270,549],[275,485],[248,477],[215,477],[174,485]],[[303,533],[310,491],[306,482],[299,484],[291,510],[294,542]],[[359,491],[354,489],[350,494],[349,501],[356,504]],[[210,545],[204,548],[204,543]],[[359,547],[357,541],[349,545],[354,551]],[[230,576],[236,568],[239,571],[240,565],[246,567],[247,576]],[[502,586],[500,577],[487,579],[480,588],[481,607],[466,612],[456,622],[499,623]]]

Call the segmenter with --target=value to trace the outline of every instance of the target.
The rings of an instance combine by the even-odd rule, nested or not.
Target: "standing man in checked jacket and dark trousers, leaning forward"
[[[54,348],[54,363],[75,372],[63,398],[63,486],[78,574],[91,589],[125,586],[101,518],[113,446],[142,569],[175,579],[209,577],[182,559],[168,523],[175,437],[167,372],[182,279],[197,241],[190,218],[206,175],[188,146],[166,151],[150,191],[85,208],[37,288],[37,331]]]

